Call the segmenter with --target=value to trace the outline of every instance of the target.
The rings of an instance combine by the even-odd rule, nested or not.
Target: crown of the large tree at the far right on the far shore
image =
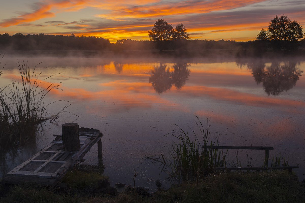
[[[297,41],[304,37],[302,26],[288,16],[275,16],[268,26],[268,35],[271,40]]]

